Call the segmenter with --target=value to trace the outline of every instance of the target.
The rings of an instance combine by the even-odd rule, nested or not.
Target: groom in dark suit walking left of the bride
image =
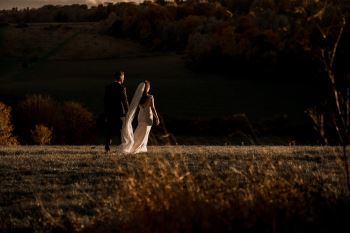
[[[114,75],[114,82],[108,84],[104,94],[104,111],[106,122],[106,144],[105,151],[109,152],[112,137],[117,136],[117,143],[121,143],[120,130],[123,125],[123,118],[128,112],[129,103],[124,83],[124,72],[119,71]]]

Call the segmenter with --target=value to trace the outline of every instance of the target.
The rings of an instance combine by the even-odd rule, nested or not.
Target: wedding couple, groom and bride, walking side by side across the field
[[[124,72],[115,74],[115,81],[106,86],[104,94],[106,142],[105,151],[110,151],[112,137],[120,141],[119,150],[122,153],[147,152],[148,136],[153,125],[159,125],[159,117],[154,105],[154,97],[149,94],[151,84],[148,80],[141,82],[129,105],[124,83]],[[133,131],[132,122],[136,111],[137,128]]]

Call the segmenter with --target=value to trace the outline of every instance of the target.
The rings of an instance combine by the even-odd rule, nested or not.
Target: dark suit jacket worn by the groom
[[[107,118],[123,117],[128,112],[129,102],[125,86],[113,82],[106,86],[104,110]]]

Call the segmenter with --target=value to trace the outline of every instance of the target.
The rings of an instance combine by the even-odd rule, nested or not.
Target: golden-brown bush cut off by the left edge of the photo
[[[17,139],[12,136],[11,107],[0,102],[0,145],[16,145]]]

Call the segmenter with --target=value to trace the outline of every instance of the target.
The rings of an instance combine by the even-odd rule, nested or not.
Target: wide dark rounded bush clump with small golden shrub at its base
[[[31,95],[21,101],[16,110],[16,126],[23,143],[94,142],[93,114],[77,102],[60,104],[49,96]]]

